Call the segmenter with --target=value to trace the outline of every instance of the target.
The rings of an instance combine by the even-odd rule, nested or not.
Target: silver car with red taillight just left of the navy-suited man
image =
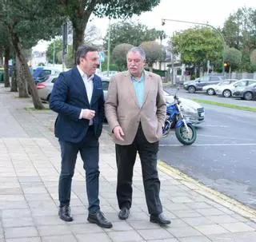
[[[46,81],[37,84],[38,96],[42,101],[49,101],[50,94],[54,87],[54,81],[58,78],[58,74],[50,75]]]

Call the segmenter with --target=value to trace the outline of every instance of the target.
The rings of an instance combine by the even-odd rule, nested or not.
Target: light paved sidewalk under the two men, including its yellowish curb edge
[[[60,153],[52,132],[55,114],[34,111],[0,85],[0,242],[255,242],[256,212],[159,161],[161,198],[170,226],[151,224],[139,162],[134,167],[134,201],[128,220],[118,219],[114,144],[106,129],[100,142],[100,200],[114,223],[89,224],[85,174],[78,158],[71,207],[74,221],[58,218]]]

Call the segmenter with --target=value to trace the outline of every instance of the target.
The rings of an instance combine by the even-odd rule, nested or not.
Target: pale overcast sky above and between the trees
[[[139,1],[139,0],[138,0]],[[161,0],[160,4],[154,7],[150,12],[134,16],[134,21],[142,22],[150,28],[164,30],[168,36],[171,36],[174,31],[186,30],[194,27],[194,24],[170,22],[162,26],[162,18],[174,20],[182,20],[186,22],[201,22],[208,23],[214,27],[222,27],[230,14],[234,14],[238,8],[251,7],[256,9],[256,0]],[[102,32],[102,37],[105,36],[109,20],[107,18],[93,18],[93,23]],[[111,22],[114,22],[112,20]],[[33,50],[46,50],[49,42],[39,42]]]

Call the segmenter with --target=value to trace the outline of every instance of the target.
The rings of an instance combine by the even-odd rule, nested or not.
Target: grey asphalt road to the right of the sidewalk
[[[247,102],[182,90],[179,96],[210,98],[238,105]],[[250,106],[256,106],[256,101],[250,101]],[[206,121],[198,125],[194,145],[181,145],[172,131],[160,141],[158,158],[203,184],[256,208],[256,113],[214,105],[204,107]]]

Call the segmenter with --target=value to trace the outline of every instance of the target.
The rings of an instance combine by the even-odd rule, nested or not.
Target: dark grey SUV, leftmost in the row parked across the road
[[[205,85],[218,84],[221,81],[223,81],[223,79],[219,76],[199,77],[194,81],[185,81],[183,88],[188,90],[189,93],[195,93],[196,91],[201,91],[202,87]]]

